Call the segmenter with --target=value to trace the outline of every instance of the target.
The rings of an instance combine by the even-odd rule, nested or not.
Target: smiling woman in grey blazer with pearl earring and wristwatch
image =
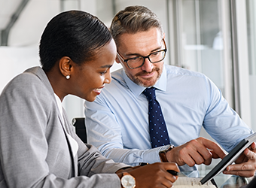
[[[166,170],[177,165],[130,168],[105,159],[75,135],[62,109],[65,96],[93,102],[111,82],[116,46],[101,21],[83,11],[53,17],[39,55],[42,68],[15,77],[0,96],[0,187],[120,187],[126,177],[136,187],[172,186],[176,177]]]

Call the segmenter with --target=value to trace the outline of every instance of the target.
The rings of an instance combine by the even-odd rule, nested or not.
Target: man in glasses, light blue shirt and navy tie
[[[123,68],[112,74],[111,84],[95,102],[85,102],[88,141],[103,155],[130,165],[177,162],[181,170],[191,170],[224,157],[218,144],[198,138],[202,126],[227,151],[252,133],[208,77],[164,65],[165,35],[160,20],[148,8],[120,11],[112,20],[111,32],[117,44],[116,62]],[[150,99],[149,89],[156,99]],[[161,109],[155,110],[157,115],[151,115],[154,104]],[[152,125],[154,117],[163,126]],[[239,158],[245,163],[229,166],[224,173],[253,175],[256,163],[251,150]]]

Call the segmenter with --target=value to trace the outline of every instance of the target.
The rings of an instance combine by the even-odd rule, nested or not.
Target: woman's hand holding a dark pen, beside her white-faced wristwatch
[[[151,165],[136,166],[117,171],[121,178],[123,172],[130,173],[136,180],[136,187],[139,188],[166,188],[172,187],[172,183],[178,178],[167,172],[167,170],[179,171],[178,165],[174,162],[156,162]]]

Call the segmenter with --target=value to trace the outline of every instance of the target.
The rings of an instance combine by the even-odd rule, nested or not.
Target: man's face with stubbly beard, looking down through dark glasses
[[[152,28],[146,32],[136,34],[122,34],[119,36],[117,52],[123,59],[130,59],[136,56],[148,56],[158,50],[165,48],[163,35],[157,28]],[[145,59],[144,65],[140,68],[130,69],[126,62],[117,56],[117,63],[121,63],[126,75],[140,86],[154,86],[163,71],[163,60],[151,63]]]

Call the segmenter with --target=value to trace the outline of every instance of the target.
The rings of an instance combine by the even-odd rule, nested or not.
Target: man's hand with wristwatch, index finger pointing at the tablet
[[[226,154],[214,141],[206,138],[197,138],[188,141],[178,147],[174,147],[166,157],[169,162],[176,162],[178,165],[210,165],[213,159],[223,159]]]

